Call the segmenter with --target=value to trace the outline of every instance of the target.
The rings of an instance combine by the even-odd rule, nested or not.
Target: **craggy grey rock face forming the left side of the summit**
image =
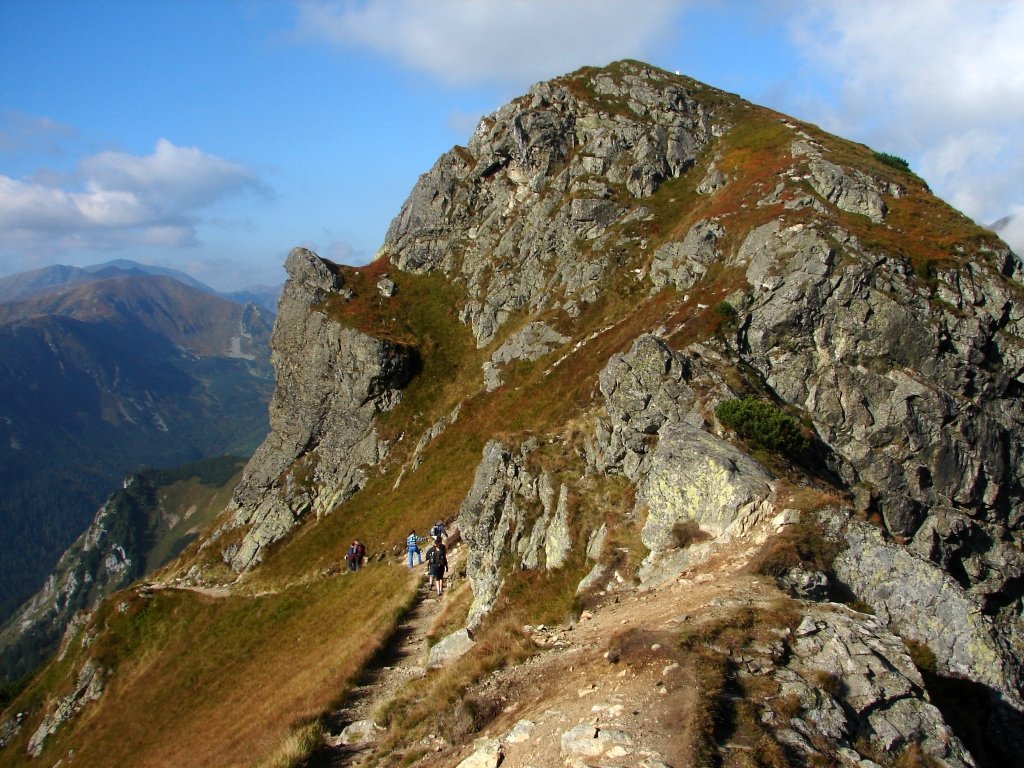
[[[681,81],[642,65],[599,73],[587,97],[541,83],[485,117],[388,229],[384,250],[400,269],[465,281],[463,317],[480,346],[516,310],[575,314],[596,300],[610,251],[638,243],[617,229],[645,215],[618,198],[649,197],[722,130]]]

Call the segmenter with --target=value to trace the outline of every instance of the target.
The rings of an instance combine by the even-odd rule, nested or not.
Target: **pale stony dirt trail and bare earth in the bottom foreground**
[[[566,739],[588,727],[622,739],[605,751],[601,765],[683,764],[686,734],[679,724],[696,706],[698,686],[680,665],[675,638],[698,617],[725,615],[738,605],[764,605],[777,597],[772,584],[744,572],[749,554],[726,550],[657,590],[609,592],[578,622],[524,627],[538,652],[464,694],[473,709],[490,713],[489,724],[477,735],[483,742],[501,741],[502,768],[567,765]],[[423,570],[418,575],[422,582],[416,605],[344,709],[329,718],[325,745],[308,768],[364,766],[374,744],[362,739],[382,734],[369,723],[402,686],[426,675],[427,633],[443,599],[429,592]],[[369,729],[355,737],[362,743],[342,743],[342,731],[360,722]],[[481,749],[480,739],[462,745],[439,735],[431,739],[430,752],[417,762],[423,768],[454,766]]]

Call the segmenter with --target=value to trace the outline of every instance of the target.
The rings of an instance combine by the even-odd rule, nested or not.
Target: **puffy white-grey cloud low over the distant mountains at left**
[[[201,211],[262,190],[245,166],[161,138],[152,155],[103,152],[79,164],[78,188],[0,175],[0,237],[61,250],[196,242]]]

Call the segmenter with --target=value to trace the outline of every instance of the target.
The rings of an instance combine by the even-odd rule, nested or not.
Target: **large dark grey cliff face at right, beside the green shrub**
[[[869,488],[895,535],[914,536],[950,503],[993,525],[985,536],[979,525],[967,550],[939,547],[973,558],[977,575],[968,570],[968,580],[980,595],[1021,574],[1008,546],[1018,503],[1005,494],[1018,482],[1013,435],[1024,421],[996,362],[1018,346],[1007,334],[1019,289],[997,271],[1014,268],[997,256],[944,275],[950,298],[938,303],[905,262],[868,254],[835,227],[771,222],[752,230],[735,258],[753,288],[738,306],[738,351],[810,416],[831,469]]]

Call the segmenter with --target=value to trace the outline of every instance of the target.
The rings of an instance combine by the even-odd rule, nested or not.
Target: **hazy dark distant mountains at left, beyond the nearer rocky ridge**
[[[129,472],[266,434],[272,314],[129,261],[0,279],[0,618]]]

